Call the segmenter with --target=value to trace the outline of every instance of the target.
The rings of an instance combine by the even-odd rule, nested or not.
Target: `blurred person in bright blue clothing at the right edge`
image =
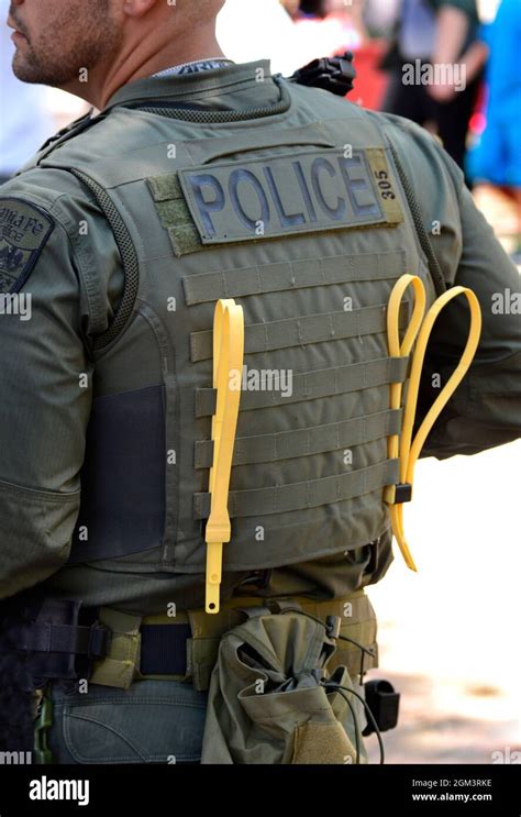
[[[521,2],[502,0],[496,20],[486,29],[490,47],[487,67],[486,128],[468,155],[468,173],[475,181],[502,188],[514,200],[514,261],[521,263],[521,77],[517,68],[521,42]]]

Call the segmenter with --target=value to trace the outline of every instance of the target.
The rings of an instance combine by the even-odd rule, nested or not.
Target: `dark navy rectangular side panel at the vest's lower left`
[[[95,399],[69,562],[160,544],[165,525],[163,386]]]

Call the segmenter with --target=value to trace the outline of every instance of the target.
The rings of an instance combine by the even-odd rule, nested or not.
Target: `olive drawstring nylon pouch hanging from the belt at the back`
[[[367,762],[359,687],[344,666],[328,670],[331,631],[295,608],[244,612],[219,647],[201,763]]]

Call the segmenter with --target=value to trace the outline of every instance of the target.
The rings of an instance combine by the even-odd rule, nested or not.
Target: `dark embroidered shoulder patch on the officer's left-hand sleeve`
[[[18,292],[23,287],[54,225],[36,205],[0,196],[0,292]]]

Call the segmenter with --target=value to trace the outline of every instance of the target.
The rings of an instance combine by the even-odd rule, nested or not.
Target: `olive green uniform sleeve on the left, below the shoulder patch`
[[[37,187],[29,173],[0,189],[0,261],[8,271],[18,264],[23,285],[11,311],[22,308],[21,296],[25,309],[23,318],[0,310],[0,598],[67,561],[91,406],[89,345],[107,329],[118,288],[119,255],[101,213],[79,195],[47,188],[47,175],[37,173]],[[32,261],[23,256],[31,227]]]

